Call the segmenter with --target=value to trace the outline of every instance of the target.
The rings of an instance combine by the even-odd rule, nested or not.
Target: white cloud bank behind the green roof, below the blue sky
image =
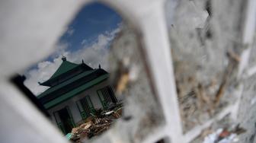
[[[69,62],[81,63],[84,59],[85,63],[90,65],[91,68],[98,68],[98,64],[104,69],[108,68],[107,56],[108,48],[111,40],[114,39],[116,33],[120,31],[118,27],[112,31],[106,31],[98,35],[98,39],[95,40],[91,45],[82,45],[81,49],[75,52],[68,52],[68,43],[59,43],[56,46],[56,52],[53,53],[53,62],[43,61],[37,64],[37,68],[27,71],[24,75],[27,80],[24,84],[32,91],[35,95],[38,95],[45,91],[47,87],[40,86],[37,82],[43,82],[50,78],[51,75],[56,71],[59,65],[62,63],[61,56],[66,56]]]

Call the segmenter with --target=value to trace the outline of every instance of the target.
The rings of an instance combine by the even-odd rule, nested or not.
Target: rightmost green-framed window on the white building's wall
[[[114,91],[110,86],[101,88],[97,91],[97,93],[104,108],[107,108],[109,103],[117,103],[117,98],[115,97]]]

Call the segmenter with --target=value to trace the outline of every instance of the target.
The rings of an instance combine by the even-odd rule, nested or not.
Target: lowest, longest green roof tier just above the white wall
[[[98,78],[95,78],[94,80],[91,80],[85,84],[82,84],[80,87],[77,87],[75,89],[73,89],[72,91],[67,92],[66,94],[62,94],[62,96],[57,97],[54,100],[51,100],[48,103],[45,103],[43,106],[46,108],[46,110],[50,109],[53,106],[56,106],[59,103],[62,103],[66,100],[69,100],[69,98],[74,97],[77,94],[82,93],[82,91],[85,91],[86,89],[88,89],[89,87],[94,86],[95,84],[98,84],[104,80],[106,80],[108,78],[108,74],[105,75],[101,75]]]

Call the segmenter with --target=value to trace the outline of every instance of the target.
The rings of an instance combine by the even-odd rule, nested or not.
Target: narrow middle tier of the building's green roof
[[[94,72],[94,71],[96,71],[96,70],[97,70],[97,69],[82,72],[81,74],[76,75],[76,76],[70,78],[69,80],[62,82],[61,84],[58,84],[58,85],[56,85],[56,86],[54,86],[54,87],[50,87],[50,88],[48,88],[46,91],[44,91],[42,94],[38,95],[37,98],[42,98],[42,97],[46,96],[47,94],[50,94],[50,93],[53,92],[53,91],[57,91],[57,90],[59,90],[60,88],[66,86],[66,85],[68,85],[68,84],[71,84],[72,82],[74,82],[74,81],[76,81],[76,80],[78,80],[78,79],[80,79],[80,78],[82,78],[82,77],[85,77],[86,75],[90,75],[92,72]]]

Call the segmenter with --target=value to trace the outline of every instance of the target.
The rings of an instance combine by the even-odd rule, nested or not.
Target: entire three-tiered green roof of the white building
[[[62,58],[62,64],[51,78],[39,83],[50,88],[38,95],[37,98],[46,109],[50,109],[75,97],[95,84],[105,81],[108,76],[107,71],[102,68],[93,69],[84,62],[75,64],[66,61],[66,58]]]

